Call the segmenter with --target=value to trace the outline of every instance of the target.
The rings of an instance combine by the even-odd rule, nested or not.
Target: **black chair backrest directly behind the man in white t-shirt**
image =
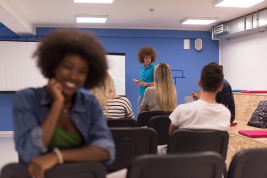
[[[225,160],[228,140],[227,131],[177,129],[171,133],[167,153],[214,151]]]

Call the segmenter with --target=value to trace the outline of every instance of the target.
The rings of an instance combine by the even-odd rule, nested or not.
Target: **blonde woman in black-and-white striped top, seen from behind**
[[[110,74],[107,74],[100,86],[90,90],[90,93],[99,100],[106,118],[135,118],[130,101],[126,97],[116,95],[114,80]]]

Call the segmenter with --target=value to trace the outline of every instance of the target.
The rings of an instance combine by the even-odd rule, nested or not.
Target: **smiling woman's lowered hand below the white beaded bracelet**
[[[28,171],[33,178],[44,178],[44,172],[58,164],[58,157],[55,153],[48,153],[35,157],[29,164]]]

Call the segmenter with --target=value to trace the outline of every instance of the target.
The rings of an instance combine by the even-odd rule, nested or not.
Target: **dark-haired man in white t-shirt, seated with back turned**
[[[223,78],[219,65],[209,64],[203,67],[198,82],[201,87],[200,99],[175,108],[169,116],[169,134],[177,128],[228,131],[231,113],[215,99],[217,92],[222,91]]]

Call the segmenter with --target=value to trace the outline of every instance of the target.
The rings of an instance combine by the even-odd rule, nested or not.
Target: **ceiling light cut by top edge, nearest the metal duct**
[[[212,3],[216,7],[249,8],[264,0],[217,0]]]

